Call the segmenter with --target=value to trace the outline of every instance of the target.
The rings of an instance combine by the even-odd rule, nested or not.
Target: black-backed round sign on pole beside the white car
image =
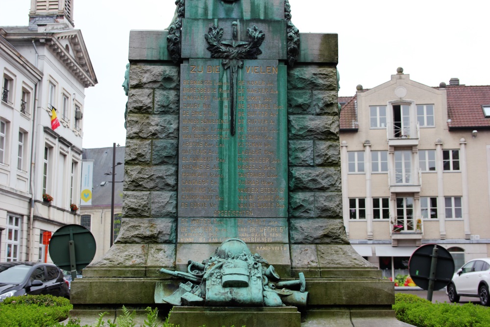
[[[424,290],[429,288],[430,268],[434,247],[437,247],[438,250],[434,290],[440,290],[449,284],[454,275],[454,260],[449,251],[436,244],[422,245],[415,250],[410,257],[408,271],[414,283]]]

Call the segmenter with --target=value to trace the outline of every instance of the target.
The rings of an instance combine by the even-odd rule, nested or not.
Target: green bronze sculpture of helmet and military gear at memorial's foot
[[[188,273],[162,268],[161,273],[184,279],[170,296],[163,283],[155,288],[155,303],[186,306],[306,306],[308,292],[303,273],[298,280],[281,281],[274,267],[245,242],[229,239],[202,262],[189,260]],[[295,290],[292,290],[295,289]]]

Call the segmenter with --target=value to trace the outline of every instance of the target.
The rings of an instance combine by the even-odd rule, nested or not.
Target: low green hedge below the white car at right
[[[466,303],[432,303],[413,294],[395,294],[396,319],[417,327],[488,327],[490,308]]]

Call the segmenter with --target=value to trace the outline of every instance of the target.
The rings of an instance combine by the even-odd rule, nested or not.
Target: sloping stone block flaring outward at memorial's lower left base
[[[121,236],[121,232],[119,235]],[[147,254],[148,246],[146,244],[114,244],[109,251],[104,254],[102,259],[91,263],[90,267],[144,266],[147,260]]]

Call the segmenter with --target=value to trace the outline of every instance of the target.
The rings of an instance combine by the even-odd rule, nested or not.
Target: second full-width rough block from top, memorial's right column
[[[289,115],[288,133],[290,139],[338,140],[339,118],[337,116]]]

